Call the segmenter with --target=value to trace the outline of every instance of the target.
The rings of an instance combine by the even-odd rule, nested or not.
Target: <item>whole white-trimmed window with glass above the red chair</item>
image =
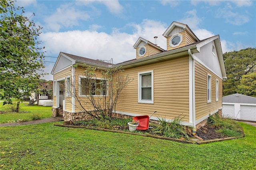
[[[154,103],[154,71],[138,72],[138,103]]]

